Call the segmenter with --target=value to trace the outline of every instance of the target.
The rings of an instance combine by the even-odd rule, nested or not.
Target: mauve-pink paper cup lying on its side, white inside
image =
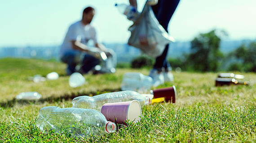
[[[107,121],[119,124],[126,124],[126,120],[134,123],[141,120],[141,104],[137,100],[106,103],[102,106],[101,112]]]

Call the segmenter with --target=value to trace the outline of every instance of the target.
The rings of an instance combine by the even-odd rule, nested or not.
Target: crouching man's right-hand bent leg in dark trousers
[[[99,59],[93,57],[92,55],[88,55],[85,54],[84,55],[84,60],[82,61],[82,67],[81,69],[87,73],[88,71],[90,71],[91,69],[93,69],[93,67],[95,67],[96,65],[98,65],[100,62]]]

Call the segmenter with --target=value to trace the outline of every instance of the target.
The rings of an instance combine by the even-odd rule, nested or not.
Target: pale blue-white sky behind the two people
[[[138,1],[141,11],[146,0]],[[1,0],[0,47],[60,45],[83,9],[92,6],[98,41],[125,43],[128,21],[115,8],[128,0]],[[199,33],[224,29],[227,39],[256,39],[256,0],[181,0],[168,26],[176,41],[190,41]]]

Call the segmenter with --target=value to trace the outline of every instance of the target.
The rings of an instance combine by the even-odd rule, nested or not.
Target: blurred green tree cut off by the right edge
[[[256,72],[256,41],[251,42],[248,46],[242,44],[232,54],[243,61],[241,68],[237,70]]]

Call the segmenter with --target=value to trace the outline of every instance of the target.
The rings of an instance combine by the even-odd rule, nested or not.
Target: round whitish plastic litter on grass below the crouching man
[[[81,75],[79,72],[74,72],[72,75],[69,77],[69,85],[72,88],[79,87],[85,83],[85,78],[83,75]]]

